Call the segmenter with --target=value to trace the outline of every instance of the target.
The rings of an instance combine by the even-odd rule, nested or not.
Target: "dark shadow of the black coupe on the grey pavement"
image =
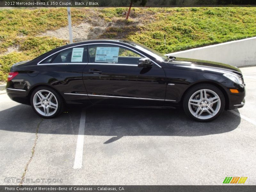
[[[123,136],[204,136],[230,132],[241,118],[224,111],[216,120],[200,123],[189,119],[183,110],[152,108],[67,108],[62,115],[43,119],[38,133],[78,134],[81,110],[86,111],[85,135],[113,136],[105,144]],[[17,105],[0,111],[0,130],[35,132],[41,121],[30,106]],[[33,122],[33,123],[32,123]]]

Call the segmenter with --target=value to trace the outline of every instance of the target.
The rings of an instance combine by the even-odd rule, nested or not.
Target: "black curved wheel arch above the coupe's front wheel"
[[[218,82],[212,82],[212,81],[200,81],[194,84],[191,84],[186,90],[185,92],[183,92],[181,99],[180,99],[180,106],[183,106],[183,100],[184,100],[184,96],[186,95],[186,93],[194,86],[196,85],[200,85],[200,84],[211,84],[216,86],[218,89],[220,89],[220,91],[223,93],[224,98],[225,98],[225,108],[224,109],[228,109],[229,108],[229,97],[228,97],[228,93],[225,91],[225,89],[218,83]]]

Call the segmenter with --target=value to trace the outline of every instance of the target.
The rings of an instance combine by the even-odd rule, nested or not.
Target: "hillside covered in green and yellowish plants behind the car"
[[[97,27],[102,21],[105,30],[97,38],[126,38],[162,53],[256,36],[255,7],[133,8],[129,20],[122,14],[126,11],[72,8],[72,24]],[[0,81],[12,64],[66,44],[42,34],[67,25],[65,8],[0,10]]]

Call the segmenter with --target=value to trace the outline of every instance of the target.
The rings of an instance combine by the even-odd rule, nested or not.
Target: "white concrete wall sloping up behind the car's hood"
[[[236,67],[256,65],[256,37],[168,53],[166,55],[215,61]]]

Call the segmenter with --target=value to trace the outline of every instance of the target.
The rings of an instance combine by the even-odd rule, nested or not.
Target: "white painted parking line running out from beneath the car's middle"
[[[84,149],[84,127],[85,127],[85,110],[82,110],[79,131],[76,143],[76,156],[74,162],[74,169],[81,169],[83,162],[83,149]]]

